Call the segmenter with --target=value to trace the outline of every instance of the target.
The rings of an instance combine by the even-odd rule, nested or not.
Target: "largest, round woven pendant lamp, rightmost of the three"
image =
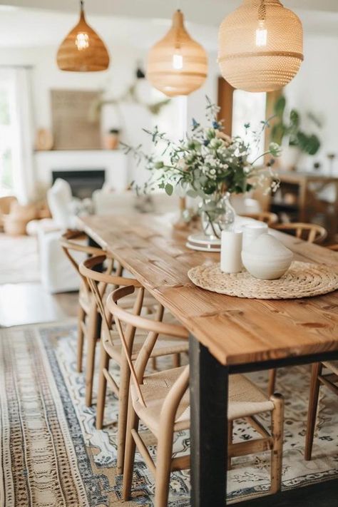
[[[296,76],[302,53],[302,23],[279,0],[244,0],[220,25],[218,63],[234,88],[279,90]]]

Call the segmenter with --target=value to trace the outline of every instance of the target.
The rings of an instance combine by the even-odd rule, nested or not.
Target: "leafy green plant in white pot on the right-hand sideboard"
[[[285,96],[277,99],[274,107],[274,123],[271,129],[271,140],[282,145],[282,168],[295,170],[302,154],[315,155],[320,148],[320,140],[315,133],[308,134],[301,128],[300,113],[294,108],[286,117],[285,108],[287,101]],[[321,123],[313,113],[307,113],[307,119],[317,128]]]

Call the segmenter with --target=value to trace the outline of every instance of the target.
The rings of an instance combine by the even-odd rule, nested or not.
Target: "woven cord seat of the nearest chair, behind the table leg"
[[[165,372],[148,375],[143,379],[140,389],[145,405],[140,403],[135,386],[130,387],[133,407],[155,436],[160,430],[160,411],[165,396],[185,367],[173,368]],[[154,389],[154,386],[156,389]],[[253,416],[265,411],[272,411],[274,404],[255,384],[244,375],[236,374],[229,377],[229,405],[227,416],[230,421]],[[189,391],[186,391],[178,411],[176,412],[174,431],[188,429],[190,426]]]

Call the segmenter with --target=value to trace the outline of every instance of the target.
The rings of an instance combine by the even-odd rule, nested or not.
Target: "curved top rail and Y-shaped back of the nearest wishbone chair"
[[[163,307],[161,307],[161,311],[158,312],[155,319],[149,319],[146,317],[141,317],[139,314],[132,314],[125,309],[118,306],[118,301],[126,297],[127,295],[133,294],[134,287],[120,287],[119,289],[114,290],[107,299],[107,307],[108,310],[113,314],[116,328],[118,329],[118,334],[120,335],[121,342],[123,345],[123,350],[126,354],[128,366],[130,368],[130,375],[133,380],[133,384],[138,393],[138,399],[140,403],[145,406],[145,400],[143,398],[142,391],[140,389],[140,384],[143,383],[143,377],[145,372],[145,367],[147,366],[148,360],[150,358],[150,354],[153,352],[153,348],[155,347],[155,343],[158,339],[159,334],[165,334],[167,336],[172,337],[173,339],[188,339],[188,331],[185,327],[180,326],[178,324],[168,324],[166,322],[160,322],[163,316]],[[144,289],[140,289],[140,293],[143,297]],[[126,340],[126,333],[123,330],[123,324],[127,324],[128,326],[132,326],[135,329],[143,329],[144,331],[148,331],[148,336],[143,343],[143,346],[138,353],[138,357],[133,364],[132,361],[132,350],[128,347],[128,343]],[[127,328],[126,328],[127,329]],[[185,373],[186,376],[186,373]],[[173,385],[173,388],[175,384]],[[172,388],[172,389],[173,389]],[[171,389],[170,389],[171,391]]]

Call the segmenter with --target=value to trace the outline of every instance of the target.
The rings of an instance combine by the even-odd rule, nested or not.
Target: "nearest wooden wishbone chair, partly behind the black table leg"
[[[188,331],[183,326],[150,320],[123,309],[121,307],[123,298],[128,297],[134,290],[134,287],[121,287],[108,296],[106,303],[108,310],[113,314],[132,378],[123,469],[123,500],[128,501],[130,498],[137,446],[145,464],[155,476],[155,507],[166,507],[170,472],[190,467],[190,456],[173,457],[174,432],[190,428],[189,367],[173,368],[155,374],[147,374],[145,368],[160,334],[188,340]],[[130,326],[148,332],[136,359],[130,354],[128,345],[128,327]],[[233,456],[270,450],[270,493],[275,493],[281,486],[283,407],[282,396],[275,394],[268,399],[266,394],[252,384],[247,377],[240,374],[230,376],[228,407],[231,433],[228,448],[230,460]],[[270,433],[255,418],[256,414],[265,411],[270,411],[271,414]],[[241,418],[247,419],[262,438],[233,444],[232,421]],[[138,431],[139,421],[157,439],[156,463],[150,456],[142,434]]]

